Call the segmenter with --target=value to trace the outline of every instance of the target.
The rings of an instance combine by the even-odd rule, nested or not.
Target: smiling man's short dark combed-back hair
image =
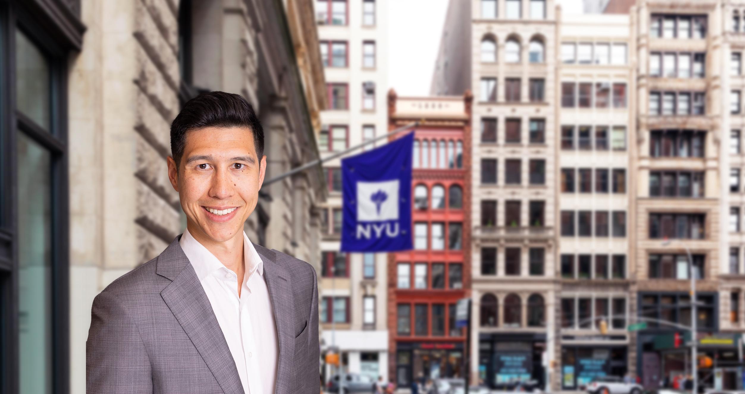
[[[176,168],[186,145],[186,133],[204,127],[247,127],[253,133],[256,156],[261,163],[264,156],[264,130],[253,107],[241,95],[226,92],[209,92],[187,101],[171,123],[171,155]]]

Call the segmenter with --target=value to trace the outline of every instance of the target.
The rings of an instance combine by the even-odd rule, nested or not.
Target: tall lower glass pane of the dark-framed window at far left
[[[51,393],[51,155],[18,133],[20,393]]]

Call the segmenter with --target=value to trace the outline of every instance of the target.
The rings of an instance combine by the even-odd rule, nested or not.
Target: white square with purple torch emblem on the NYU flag
[[[377,222],[399,219],[399,179],[357,182],[357,220]]]

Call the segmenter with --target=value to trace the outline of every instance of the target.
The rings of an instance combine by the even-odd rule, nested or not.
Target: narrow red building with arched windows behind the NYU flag
[[[388,366],[399,387],[419,376],[464,376],[466,331],[454,322],[455,305],[471,287],[471,103],[470,92],[388,94],[389,130],[419,121],[411,182],[414,249],[388,255]]]

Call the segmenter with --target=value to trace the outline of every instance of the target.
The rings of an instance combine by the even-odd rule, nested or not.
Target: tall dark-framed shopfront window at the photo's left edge
[[[0,3],[0,393],[69,393],[66,100],[79,6]]]

